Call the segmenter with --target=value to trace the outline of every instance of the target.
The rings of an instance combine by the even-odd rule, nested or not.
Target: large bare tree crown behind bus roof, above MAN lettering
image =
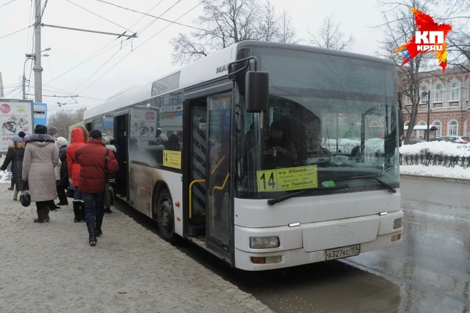
[[[295,42],[287,12],[281,16],[269,1],[211,0],[194,23],[199,30],[170,40],[172,63],[186,64],[244,40]]]

